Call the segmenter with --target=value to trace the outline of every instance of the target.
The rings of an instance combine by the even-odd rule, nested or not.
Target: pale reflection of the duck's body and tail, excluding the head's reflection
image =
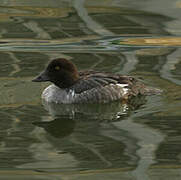
[[[79,121],[79,117],[87,116],[99,121],[116,121],[128,116],[132,110],[140,108],[146,99],[144,96],[132,98],[129,103],[115,101],[105,104],[56,104],[42,101],[44,108],[53,117],[67,117]]]

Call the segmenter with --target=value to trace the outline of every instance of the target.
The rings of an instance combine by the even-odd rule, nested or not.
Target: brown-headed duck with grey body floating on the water
[[[115,100],[128,101],[138,95],[157,94],[161,91],[145,86],[130,76],[119,74],[82,71],[69,60],[52,60],[33,82],[50,81],[42,93],[47,102],[71,103],[107,103]]]

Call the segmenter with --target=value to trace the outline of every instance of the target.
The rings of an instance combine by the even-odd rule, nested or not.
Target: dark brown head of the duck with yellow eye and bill
[[[79,79],[76,66],[69,60],[58,58],[52,60],[45,71],[33,82],[50,81],[60,88],[71,87]]]

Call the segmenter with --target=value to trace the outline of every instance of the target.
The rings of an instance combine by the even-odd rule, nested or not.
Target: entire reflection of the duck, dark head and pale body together
[[[92,123],[116,122],[129,116],[131,110],[138,109],[145,103],[145,97],[135,98],[129,104],[112,102],[107,104],[55,104],[42,101],[44,108],[51,115],[51,120],[34,122],[56,138],[70,135],[76,123],[81,121]]]

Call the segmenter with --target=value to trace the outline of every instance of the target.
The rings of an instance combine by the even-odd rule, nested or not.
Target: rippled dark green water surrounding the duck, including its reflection
[[[0,6],[0,179],[181,179],[180,1]],[[31,79],[56,57],[163,89],[134,108],[43,106]]]

